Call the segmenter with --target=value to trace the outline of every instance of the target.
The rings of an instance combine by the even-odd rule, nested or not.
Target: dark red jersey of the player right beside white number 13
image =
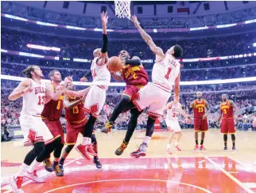
[[[51,121],[59,120],[60,116],[62,115],[63,100],[63,95],[61,95],[58,100],[50,100],[47,104],[45,104],[45,108],[41,113],[41,117]]]

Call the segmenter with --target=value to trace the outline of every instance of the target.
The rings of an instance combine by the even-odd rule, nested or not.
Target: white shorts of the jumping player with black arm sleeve
[[[84,101],[84,111],[98,118],[106,100],[106,89],[101,85],[92,85]]]

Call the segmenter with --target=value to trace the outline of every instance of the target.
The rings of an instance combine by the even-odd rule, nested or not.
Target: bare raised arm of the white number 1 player
[[[131,21],[134,22],[135,28],[138,28],[138,32],[140,32],[142,39],[145,41],[145,43],[149,45],[151,51],[153,51],[153,53],[158,56],[158,59],[163,59],[165,57],[164,51],[161,49],[161,47],[157,47],[157,45],[154,44],[151,36],[149,36],[149,34],[147,34],[145,30],[140,26],[137,17],[132,16]]]

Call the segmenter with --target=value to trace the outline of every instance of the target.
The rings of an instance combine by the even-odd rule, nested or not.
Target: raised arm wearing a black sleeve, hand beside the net
[[[107,55],[107,43],[108,43],[108,39],[107,39],[107,20],[108,20],[108,16],[107,16],[107,12],[106,13],[101,13],[101,20],[103,21],[103,47],[101,48],[101,55],[99,56],[98,61],[96,62],[96,64],[98,66],[103,66],[104,64],[106,64],[107,60],[108,60],[108,55]]]

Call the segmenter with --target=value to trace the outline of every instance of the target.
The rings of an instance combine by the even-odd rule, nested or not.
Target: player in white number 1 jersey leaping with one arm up
[[[149,107],[149,118],[147,121],[145,140],[137,151],[130,154],[131,157],[140,157],[146,155],[146,147],[153,134],[155,120],[163,114],[166,103],[171,96],[174,84],[174,104],[179,101],[180,95],[180,62],[177,58],[181,57],[183,50],[179,45],[170,47],[166,53],[153,43],[152,38],[140,26],[136,16],[132,17],[132,21],[142,39],[149,45],[151,51],[156,55],[156,62],[153,65],[152,81],[148,83],[135,94],[133,98],[134,105],[141,112]]]

